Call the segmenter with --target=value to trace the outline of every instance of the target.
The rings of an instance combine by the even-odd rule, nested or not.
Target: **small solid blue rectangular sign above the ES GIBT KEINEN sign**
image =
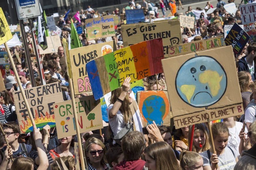
[[[143,9],[125,10],[125,14],[126,14],[127,24],[134,24],[134,23],[145,21],[145,15],[144,15]]]

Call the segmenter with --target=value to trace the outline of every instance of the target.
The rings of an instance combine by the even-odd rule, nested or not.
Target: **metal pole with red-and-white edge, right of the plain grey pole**
[[[41,59],[40,51],[39,51],[39,47],[38,47],[38,40],[35,35],[33,20],[31,18],[29,18],[28,22],[29,22],[30,32],[31,32],[31,36],[32,36],[34,53],[35,53],[35,57],[36,57],[36,63],[38,66],[38,72],[39,72],[39,76],[40,76],[40,80],[41,80],[41,85],[45,85],[46,84],[45,74],[44,74],[42,59]]]

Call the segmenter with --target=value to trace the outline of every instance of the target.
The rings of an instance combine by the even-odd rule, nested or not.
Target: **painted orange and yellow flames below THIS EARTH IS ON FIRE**
[[[43,129],[45,125],[49,125],[50,127],[55,126],[55,116],[50,115],[48,112],[45,113],[45,117],[39,117],[37,110],[35,110],[35,124],[37,128]],[[28,133],[33,131],[33,126],[28,118],[27,120],[19,122],[21,133]]]

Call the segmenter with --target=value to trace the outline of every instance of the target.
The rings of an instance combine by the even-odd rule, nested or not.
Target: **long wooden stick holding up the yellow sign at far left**
[[[19,79],[18,72],[17,72],[17,70],[15,69],[16,67],[15,67],[15,64],[14,64],[14,62],[13,62],[13,58],[12,58],[12,56],[11,56],[10,49],[9,49],[9,47],[8,47],[8,45],[7,45],[6,42],[4,43],[4,46],[5,46],[6,51],[7,51],[7,53],[8,53],[9,59],[10,59],[10,61],[11,61],[11,65],[12,65],[12,67],[14,68],[13,71],[14,71],[14,74],[15,74],[15,77],[16,77],[16,81],[17,81],[17,83],[18,83],[18,85],[19,85],[19,87],[20,87],[22,98],[23,98],[23,100],[24,100],[24,102],[25,102],[25,105],[26,105],[26,108],[27,108],[27,110],[28,110],[28,116],[29,116],[29,118],[30,118],[31,123],[32,123],[32,124],[35,124],[34,118],[33,118],[33,116],[32,116],[31,110],[30,110],[30,106],[28,105],[28,100],[27,100],[27,98],[26,98],[26,96],[25,96],[24,89],[23,89],[23,87],[22,87],[22,85],[21,85],[21,81],[20,81],[20,79]]]

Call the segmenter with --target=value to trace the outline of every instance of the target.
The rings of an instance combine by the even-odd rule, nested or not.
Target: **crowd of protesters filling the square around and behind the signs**
[[[229,1],[230,3],[233,1]],[[80,12],[81,23],[85,28],[85,20],[97,18],[104,15],[124,15],[125,9],[143,9],[145,16],[159,17],[159,10],[170,10],[172,15],[179,17],[176,12],[182,7],[182,2],[178,0],[160,0],[159,4],[143,0],[142,4],[131,0],[129,4],[119,10],[116,8],[113,13],[108,11],[99,13],[90,6]],[[196,21],[193,29],[181,27],[182,43],[208,39],[216,36],[224,36],[224,25],[233,25],[235,22],[241,24],[241,13],[238,10],[235,16],[229,14],[223,5],[224,1],[218,0],[216,7],[221,10],[214,11],[207,18],[201,13],[199,20]],[[213,8],[210,2],[206,3],[206,9]],[[186,14],[192,12],[191,6],[188,7]],[[201,8],[195,10],[201,11]],[[152,13],[153,11],[153,13]],[[62,37],[70,34],[70,23],[72,16],[66,20],[60,18],[57,26],[62,29]],[[77,22],[77,21],[75,21]],[[116,28],[116,36],[111,37],[116,40],[118,48],[123,45],[121,19]],[[95,41],[87,41],[86,34],[79,34],[83,46],[95,44]],[[22,39],[22,38],[21,38]],[[34,56],[31,34],[27,32],[27,41],[30,47],[30,55]],[[61,38],[62,41],[62,38]],[[5,49],[1,49],[5,51]],[[32,169],[69,169],[75,168],[75,155],[78,154],[74,148],[77,136],[67,136],[57,139],[56,128],[49,125],[43,129],[33,128],[33,132],[21,134],[16,115],[16,103],[13,102],[12,92],[21,88],[32,87],[24,48],[16,46],[10,48],[11,55],[16,63],[16,68],[10,69],[4,76],[6,90],[0,91],[0,126],[3,132],[0,135],[0,169],[11,170],[32,170]],[[21,58],[19,61],[17,56]],[[70,100],[70,88],[67,75],[67,66],[63,46],[58,48],[57,53],[41,55],[43,60],[43,70],[47,84],[59,82],[61,84],[62,96],[64,100]],[[175,129],[169,126],[157,126],[155,122],[145,127],[145,133],[136,129],[136,124],[143,124],[143,117],[133,119],[129,105],[135,100],[130,94],[130,77],[127,77],[122,86],[111,92],[110,105],[107,108],[109,125],[103,129],[106,135],[99,135],[96,131],[83,133],[84,158],[88,170],[195,170],[195,169],[256,169],[256,42],[247,44],[242,53],[234,58],[236,62],[240,93],[243,100],[245,114],[224,118],[223,122],[208,124],[195,124],[194,131],[191,126]],[[41,85],[38,66],[32,61],[35,83]],[[18,86],[13,69],[18,72],[22,87]],[[167,90],[164,73],[159,73],[157,80],[155,76],[143,79],[145,90]],[[77,95],[76,98],[92,95],[84,93]],[[245,122],[245,123],[244,123]],[[213,141],[210,140],[209,129],[211,128]],[[117,139],[129,129],[126,135]],[[193,134],[193,135],[192,135]],[[9,144],[6,145],[5,137]],[[191,141],[192,140],[192,141]],[[214,148],[213,148],[214,147]],[[189,148],[192,148],[189,151]],[[216,152],[214,152],[214,150]],[[14,159],[11,161],[12,158]]]

